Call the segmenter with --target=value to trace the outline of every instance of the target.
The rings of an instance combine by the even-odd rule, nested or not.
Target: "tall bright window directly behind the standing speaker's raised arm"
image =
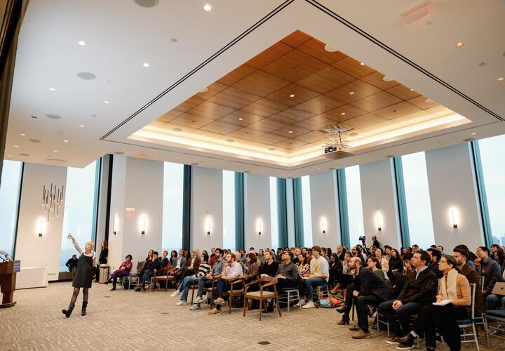
[[[95,161],[85,168],[67,168],[60,272],[68,271],[65,263],[76,253],[72,241],[67,239],[68,233],[72,233],[81,249],[84,249],[83,245],[86,241],[95,241],[93,219],[97,211],[97,167],[99,166],[100,163]],[[95,251],[100,253],[100,247],[95,248]]]

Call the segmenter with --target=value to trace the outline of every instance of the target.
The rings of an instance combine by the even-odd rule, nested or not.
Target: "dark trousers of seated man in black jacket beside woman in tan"
[[[396,300],[389,300],[381,303],[379,305],[379,313],[382,314],[388,322],[389,329],[391,329],[391,336],[406,336],[410,333],[409,317],[418,314],[423,305],[420,303],[405,303],[405,305],[401,305],[394,310],[394,301]],[[398,322],[395,316],[398,317]]]

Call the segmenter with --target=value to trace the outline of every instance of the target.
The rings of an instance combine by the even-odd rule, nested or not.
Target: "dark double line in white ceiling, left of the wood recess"
[[[236,37],[235,39],[233,39],[232,41],[230,41],[228,44],[226,44],[225,46],[223,46],[222,48],[220,48],[220,50],[217,51],[216,53],[214,53],[212,56],[210,56],[210,58],[208,58],[207,60],[201,62],[201,64],[198,65],[198,66],[196,66],[194,69],[191,69],[190,72],[188,72],[182,78],[180,78],[178,81],[176,81],[174,84],[172,84],[171,86],[169,86],[168,88],[166,88],[166,90],[162,91],[154,99],[152,99],[151,101],[147,102],[147,104],[145,104],[144,106],[140,107],[140,109],[137,110],[135,113],[133,113],[130,117],[128,117],[127,119],[125,119],[124,121],[122,121],[120,124],[118,124],[117,126],[115,126],[114,128],[112,128],[110,131],[108,131],[105,135],[102,136],[102,138],[100,138],[100,140],[105,140],[105,138],[107,138],[109,135],[111,135],[112,133],[114,133],[114,131],[118,130],[119,128],[121,128],[121,126],[123,126],[124,124],[128,123],[128,121],[130,121],[131,119],[135,118],[138,114],[140,114],[142,111],[146,110],[149,106],[151,106],[152,104],[154,104],[154,102],[156,102],[157,100],[159,100],[160,98],[162,98],[164,95],[166,95],[167,93],[170,93],[170,91],[173,91],[174,88],[176,88],[177,86],[179,86],[180,84],[182,84],[184,81],[186,81],[187,79],[189,79],[189,77],[191,77],[193,74],[195,74],[196,72],[198,72],[200,69],[202,69],[203,67],[205,67],[206,65],[208,65],[210,62],[212,62],[216,58],[218,58],[220,55],[222,55],[224,52],[226,52],[229,48],[231,48],[232,46],[234,46],[235,44],[237,44],[238,41],[241,41],[242,39],[244,39],[245,37],[247,37],[248,34],[250,34],[251,32],[254,32],[255,29],[257,29],[258,27],[260,27],[261,25],[263,25],[269,19],[273,18],[277,13],[281,12],[284,8],[286,8],[287,6],[289,6],[290,4],[292,4],[292,2],[294,2],[294,1],[295,0],[286,0],[281,5],[279,5],[276,8],[274,8],[274,10],[272,10],[270,13],[268,13],[267,15],[265,15],[261,20],[257,21],[254,25],[252,25],[248,29],[245,29],[245,31],[242,32],[242,34],[238,35],[238,37]]]

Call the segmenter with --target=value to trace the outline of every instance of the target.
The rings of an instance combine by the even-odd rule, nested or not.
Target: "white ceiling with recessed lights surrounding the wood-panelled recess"
[[[251,6],[160,0],[142,8],[133,0],[30,1],[18,44],[6,159],[86,166],[105,153],[144,151],[148,159],[289,177],[505,133],[505,81],[497,81],[505,76],[504,4],[433,0],[428,18],[405,26],[401,14],[422,2],[262,0]],[[213,11],[203,11],[207,3]],[[296,29],[472,123],[389,140],[348,159],[321,157],[292,167],[128,138]],[[454,47],[459,41],[463,48]],[[82,71],[96,79],[76,77]]]

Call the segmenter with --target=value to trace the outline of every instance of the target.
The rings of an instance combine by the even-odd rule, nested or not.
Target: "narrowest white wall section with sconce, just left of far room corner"
[[[266,176],[244,176],[244,237],[245,249],[256,250],[271,246],[270,179]],[[257,221],[262,220],[262,232],[258,234]]]

